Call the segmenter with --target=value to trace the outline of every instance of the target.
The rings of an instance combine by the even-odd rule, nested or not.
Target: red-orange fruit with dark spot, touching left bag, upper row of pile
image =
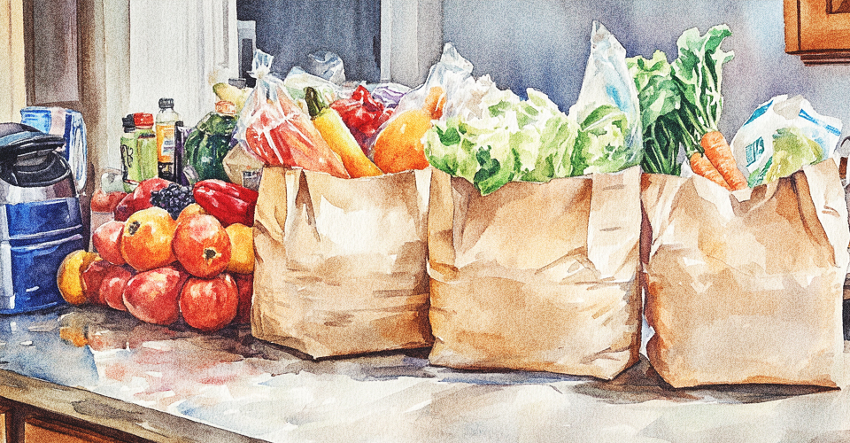
[[[177,223],[172,242],[174,257],[192,276],[212,278],[230,262],[230,236],[210,214],[195,214]]]

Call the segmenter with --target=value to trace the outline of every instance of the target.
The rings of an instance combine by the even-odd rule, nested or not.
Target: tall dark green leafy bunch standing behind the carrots
[[[672,64],[662,51],[651,59],[626,59],[638,88],[645,146],[641,167],[646,172],[679,175],[679,145],[686,156],[701,152],[700,138],[717,129],[723,110],[722,67],[733,57],[720,45],[729,35],[725,25],[705,35],[697,28],[684,31],[676,40],[678,58]]]

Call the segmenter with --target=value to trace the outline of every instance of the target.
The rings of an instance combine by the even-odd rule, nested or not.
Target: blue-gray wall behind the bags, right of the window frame
[[[802,94],[818,113],[838,117],[850,134],[850,66],[803,66],[784,53],[782,0],[444,0],[443,35],[501,88],[533,87],[567,110],[578,97],[593,19],[627,55],[661,49],[676,57],[676,38],[726,23],[723,43],[735,58],[723,69],[720,129],[731,140],[757,105],[779,94]]]

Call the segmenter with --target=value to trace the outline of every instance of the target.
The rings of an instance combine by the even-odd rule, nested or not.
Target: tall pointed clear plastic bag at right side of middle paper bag
[[[622,145],[607,144],[615,125],[606,120],[617,118],[614,113],[600,113],[600,108],[614,106],[625,114],[627,130],[622,134]],[[595,128],[607,128],[606,137],[591,137],[590,141],[580,138],[576,149],[585,157],[583,173],[616,172],[640,163],[643,155],[643,128],[640,122],[638,88],[626,65],[626,50],[616,37],[597,21],[591,33],[591,55],[584,70],[582,89],[575,105],[570,106],[569,116],[583,124],[586,134],[598,132]],[[587,120],[598,120],[588,122]],[[613,121],[612,121],[613,122]],[[585,126],[590,123],[591,131]],[[592,144],[592,145],[591,145]],[[592,149],[592,152],[590,151]],[[580,174],[580,173],[579,173]]]

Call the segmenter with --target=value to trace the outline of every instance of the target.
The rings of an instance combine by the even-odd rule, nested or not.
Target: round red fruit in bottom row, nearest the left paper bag
[[[212,332],[232,322],[239,307],[239,290],[228,273],[213,278],[190,277],[180,294],[180,313],[189,326]]]

